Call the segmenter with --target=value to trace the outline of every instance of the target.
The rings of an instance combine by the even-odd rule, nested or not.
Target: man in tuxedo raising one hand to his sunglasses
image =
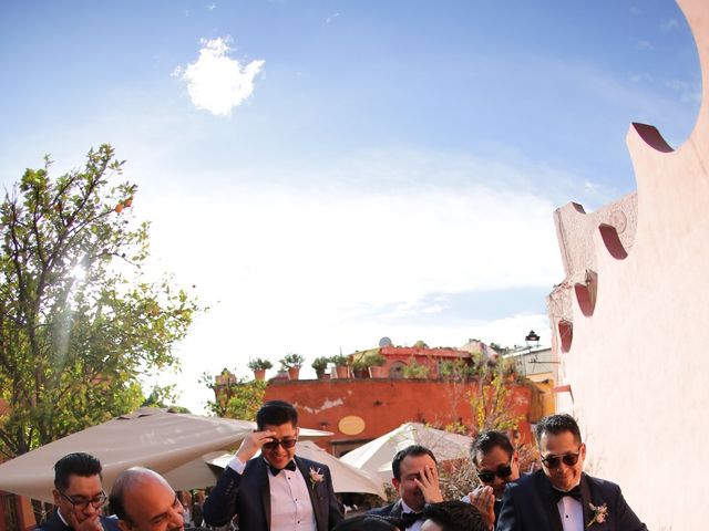
[[[258,430],[244,439],[204,503],[204,521],[224,525],[238,516],[247,531],[328,531],[342,520],[327,466],[296,456],[298,413],[282,400],[256,414]],[[261,456],[251,459],[260,450]]]

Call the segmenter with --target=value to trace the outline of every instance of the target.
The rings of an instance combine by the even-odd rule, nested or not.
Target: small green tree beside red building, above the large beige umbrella
[[[207,409],[217,417],[256,420],[256,413],[264,404],[266,382],[237,378],[224,368],[218,376],[203,374],[201,383],[214,392],[214,400]]]

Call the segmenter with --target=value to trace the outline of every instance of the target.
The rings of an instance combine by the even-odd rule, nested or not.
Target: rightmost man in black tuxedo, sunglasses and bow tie
[[[497,531],[647,531],[620,488],[582,472],[586,445],[569,415],[551,415],[535,429],[542,470],[510,483]]]

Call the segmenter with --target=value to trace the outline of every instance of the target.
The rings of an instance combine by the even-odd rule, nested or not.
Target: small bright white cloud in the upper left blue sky
[[[259,60],[243,66],[228,56],[227,42],[228,38],[203,39],[199,59],[188,64],[182,74],[194,106],[217,116],[229,116],[235,106],[254,93],[254,79],[265,64]],[[179,72],[181,66],[173,74]]]

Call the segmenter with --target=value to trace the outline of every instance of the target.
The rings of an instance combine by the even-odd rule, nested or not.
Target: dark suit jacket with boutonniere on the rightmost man
[[[606,521],[596,522],[590,531],[647,531],[647,528],[628,507],[620,487],[610,481],[580,477],[584,529],[594,519],[589,503],[608,507]],[[543,470],[507,483],[502,497],[502,511],[497,531],[562,531],[562,517],[552,492],[552,483]]]

